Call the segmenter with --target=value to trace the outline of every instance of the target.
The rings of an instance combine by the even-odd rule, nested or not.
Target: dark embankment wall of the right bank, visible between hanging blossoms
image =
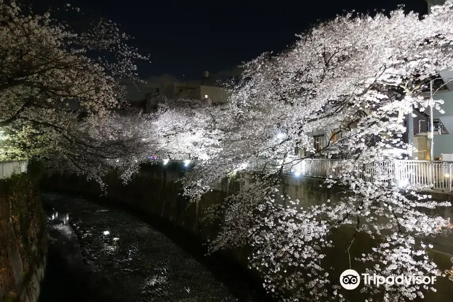
[[[107,197],[118,203],[165,218],[174,225],[181,226],[186,231],[198,236],[202,241],[207,242],[208,239],[216,236],[221,228],[221,222],[217,221],[212,224],[202,223],[204,209],[222,202],[226,192],[236,191],[244,183],[226,180],[215,186],[216,190],[206,194],[198,205],[189,204],[188,200],[180,195],[181,186],[177,182],[179,177],[184,175],[186,169],[177,163],[169,163],[167,166],[145,166],[139,173],[133,176],[127,185],[121,183],[121,180],[118,179],[118,174],[112,173],[106,177],[106,183],[108,184]],[[247,174],[240,176],[245,176],[244,181],[248,181]],[[299,199],[300,203],[304,206],[323,203],[327,199],[331,199],[334,202],[338,201],[341,196],[340,192],[325,188],[321,189],[320,184],[322,182],[323,180],[321,179],[284,176],[280,183],[280,192],[289,194],[292,196],[292,199]],[[47,189],[89,193],[92,196],[102,195],[98,184],[87,182],[83,178],[75,176],[53,176],[46,179],[43,185]],[[451,211],[451,209],[448,211]],[[338,276],[332,275],[334,279],[339,277],[339,274],[343,270],[349,268],[348,255],[345,251],[348,248],[353,233],[354,231],[351,228],[345,226],[333,230],[329,238],[334,241],[335,248],[325,251],[327,257],[323,259],[323,266],[335,268]],[[430,257],[435,260],[441,269],[449,269],[453,265],[450,261],[451,254],[453,254],[451,240],[441,239],[441,241],[444,242],[445,251],[431,250]],[[365,234],[357,235],[355,243],[350,249],[352,268],[358,272],[364,272],[365,267],[362,263],[354,261],[354,257],[369,252],[378,243],[376,240],[371,240]],[[250,253],[251,249],[244,247],[237,250],[230,250],[226,255],[247,267]],[[259,276],[257,272],[252,272],[256,276]],[[451,296],[453,296],[452,285],[453,283],[449,280],[439,280],[436,283],[437,292],[430,292],[427,295],[427,300],[450,301]],[[363,301],[365,299],[358,291],[349,291],[347,297],[350,301]]]

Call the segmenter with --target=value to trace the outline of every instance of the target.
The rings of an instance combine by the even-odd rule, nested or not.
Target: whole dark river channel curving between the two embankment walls
[[[40,301],[253,301],[135,216],[43,194],[49,250]]]

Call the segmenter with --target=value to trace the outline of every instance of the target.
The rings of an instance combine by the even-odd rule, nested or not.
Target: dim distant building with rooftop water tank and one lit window
[[[144,100],[145,112],[156,112],[159,104],[166,99],[197,99],[210,100],[212,103],[221,103],[230,96],[230,90],[209,81],[209,72],[203,72],[203,78],[198,82],[161,83],[153,92],[146,94]]]

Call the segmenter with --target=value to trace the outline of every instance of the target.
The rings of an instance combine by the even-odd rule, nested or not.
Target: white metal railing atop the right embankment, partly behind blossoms
[[[282,165],[282,159],[255,158],[248,164],[247,171],[281,170],[285,175],[304,175],[306,177],[339,178],[344,173],[352,173],[355,177],[366,181],[379,175],[380,180],[394,180],[402,185],[411,184],[430,189],[452,191],[453,162],[444,161],[409,161],[398,160],[394,164],[371,163],[359,164],[352,172],[345,171],[339,160],[304,159],[294,160]]]

